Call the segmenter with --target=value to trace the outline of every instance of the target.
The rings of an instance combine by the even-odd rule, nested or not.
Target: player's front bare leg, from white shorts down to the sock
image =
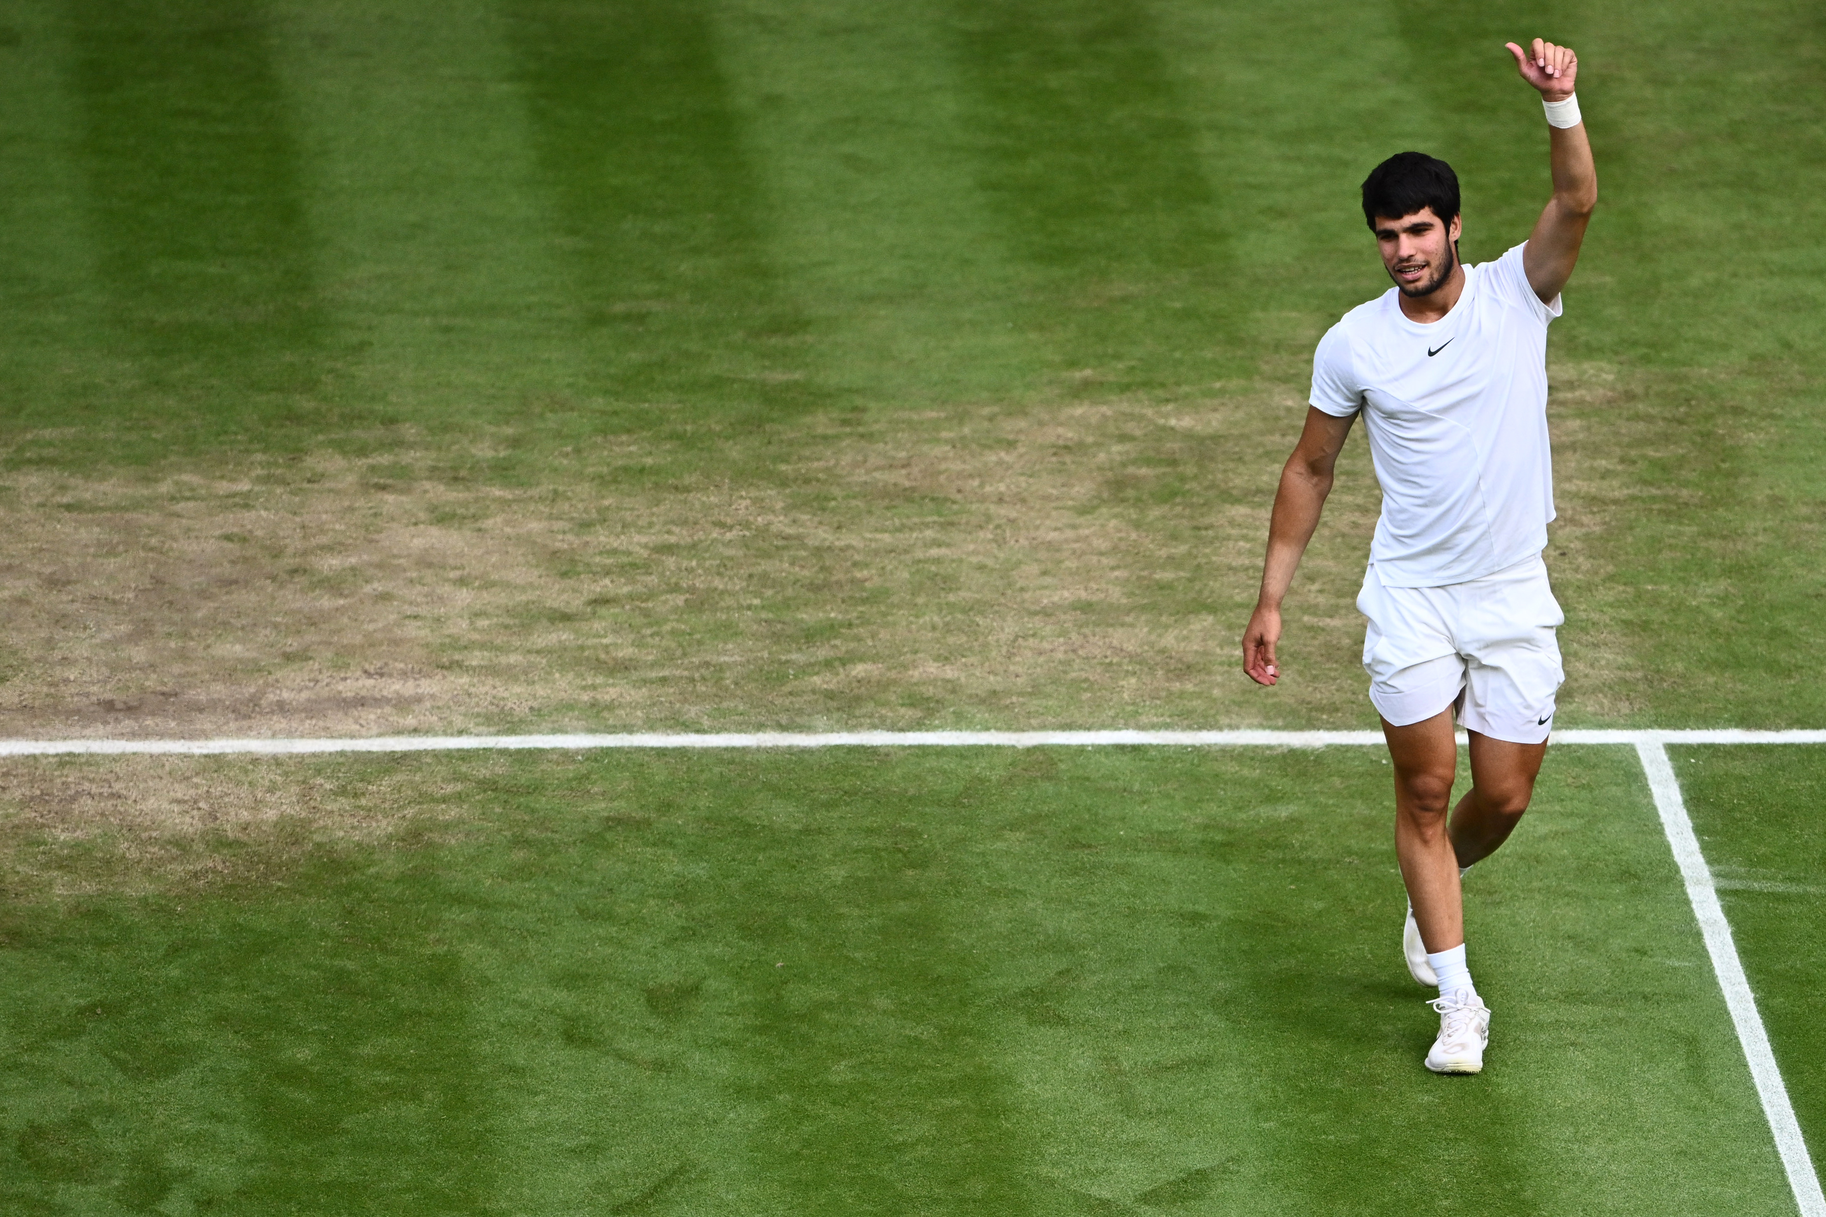
[[[1384,719],[1382,735],[1395,768],[1395,858],[1413,901],[1413,921],[1430,952],[1450,951],[1464,941],[1459,861],[1446,832],[1452,775],[1459,765],[1452,710],[1410,726]]]

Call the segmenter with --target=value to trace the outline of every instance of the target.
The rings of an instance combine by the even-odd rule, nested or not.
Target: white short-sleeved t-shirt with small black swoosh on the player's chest
[[[1382,484],[1370,560],[1388,588],[1444,588],[1547,547],[1547,323],[1517,244],[1464,268],[1439,321],[1401,312],[1390,288],[1344,314],[1313,356],[1315,407],[1362,411]]]

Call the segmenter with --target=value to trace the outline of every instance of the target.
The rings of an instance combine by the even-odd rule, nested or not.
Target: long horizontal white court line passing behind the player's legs
[[[1459,735],[1463,743],[1464,735]],[[0,757],[299,755],[321,752],[471,752],[506,748],[1043,748],[1380,744],[1382,732],[752,732],[621,735],[371,735],[325,739],[0,739]],[[1556,744],[1826,744],[1826,732],[1570,730]]]

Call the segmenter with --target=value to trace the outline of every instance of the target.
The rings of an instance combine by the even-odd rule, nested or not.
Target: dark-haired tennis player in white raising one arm
[[[1547,327],[1598,203],[1572,93],[1578,57],[1539,38],[1532,51],[1514,42],[1508,51],[1547,109],[1554,197],[1525,244],[1464,266],[1459,182],[1446,162],[1404,151],[1364,181],[1364,219],[1395,286],[1318,343],[1311,409],[1280,474],[1262,595],[1244,633],[1244,671],[1275,684],[1280,604],[1362,414],[1382,516],[1357,608],[1370,619],[1370,701],[1395,770],[1408,969],[1439,985],[1433,1073],[1483,1069],[1490,1011],[1464,960],[1459,879],[1527,810],[1561,682],[1563,619],[1541,562],[1554,518]],[[1448,808],[1453,713],[1470,735],[1472,788]]]

